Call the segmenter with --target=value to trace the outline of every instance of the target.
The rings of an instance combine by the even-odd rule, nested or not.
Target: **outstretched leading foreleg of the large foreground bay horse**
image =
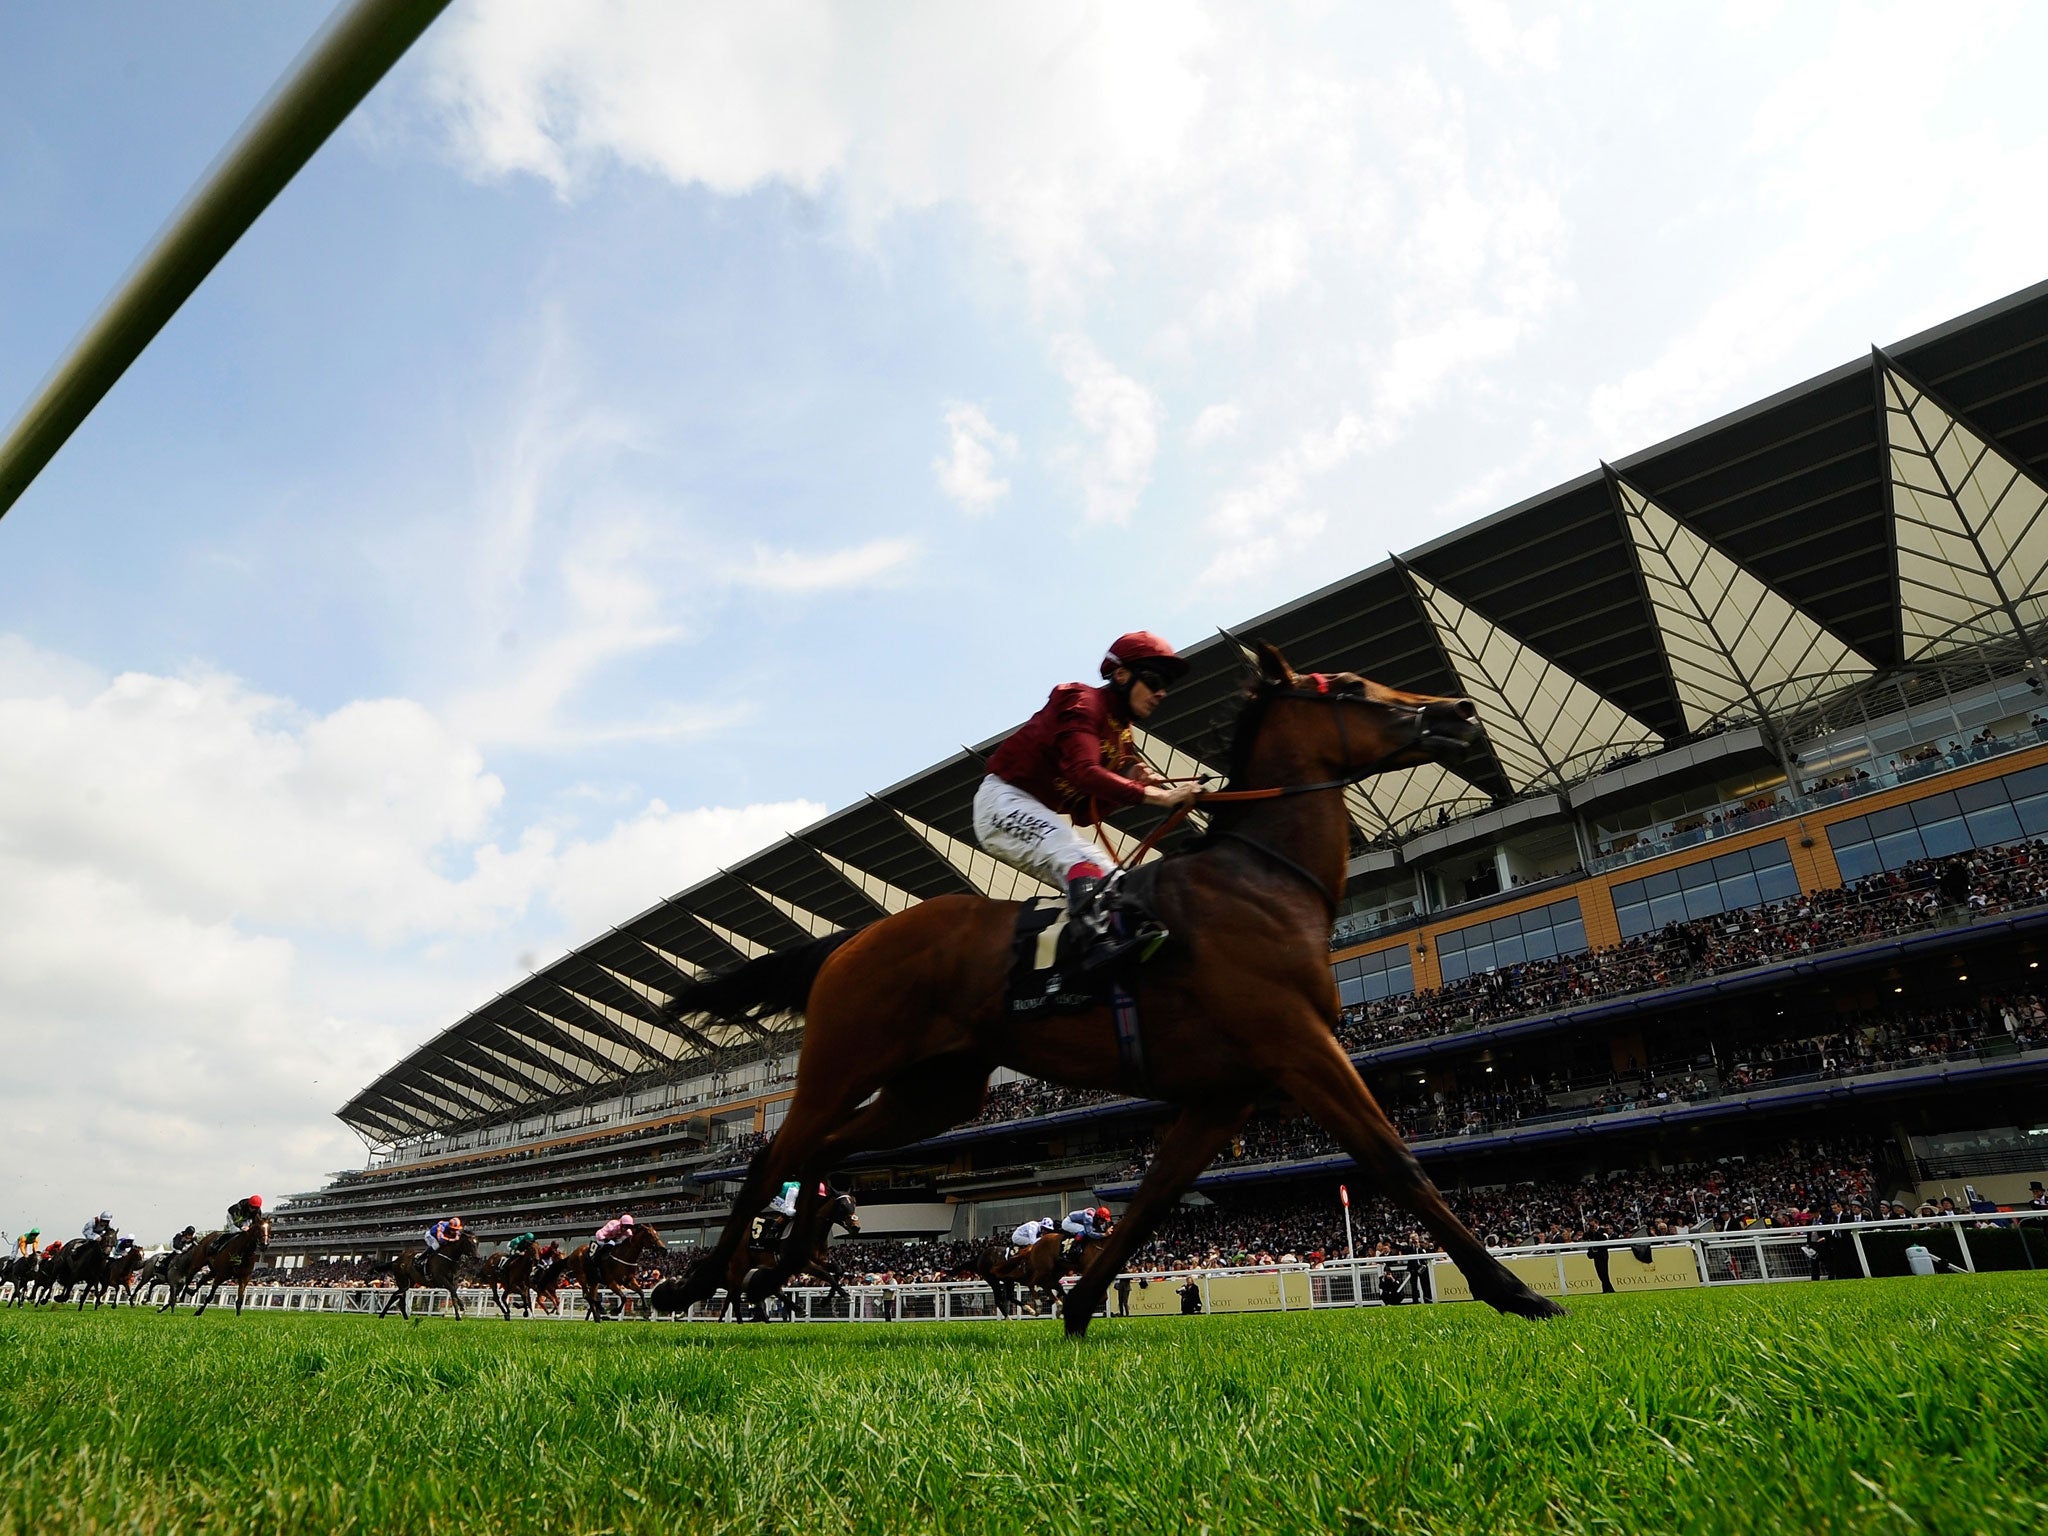
[[[1380,1194],[1430,1229],[1479,1300],[1518,1317],[1563,1317],[1563,1307],[1522,1284],[1452,1214],[1327,1026],[1319,1018],[1307,1018],[1303,1024],[1294,1030],[1274,1030],[1270,1036],[1282,1053],[1274,1063],[1280,1087],[1358,1159]]]

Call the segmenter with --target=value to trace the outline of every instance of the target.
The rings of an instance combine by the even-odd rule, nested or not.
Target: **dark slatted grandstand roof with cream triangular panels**
[[[1872,680],[2034,666],[2044,487],[2048,283],[1235,629],[1305,670],[1479,702],[1483,760],[1352,793],[1360,836],[1384,838],[1726,723],[1819,729]],[[1241,686],[1229,641],[1186,653],[1188,680],[1141,737],[1169,772],[1214,756]],[[664,1026],[682,977],[930,895],[1034,889],[975,848],[979,778],[979,758],[954,754],[700,881],[440,1032],[340,1118],[389,1145],[688,1069],[748,1036]]]

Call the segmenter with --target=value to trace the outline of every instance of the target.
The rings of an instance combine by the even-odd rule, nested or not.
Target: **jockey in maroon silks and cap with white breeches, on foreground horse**
[[[1067,682],[1008,741],[989,754],[975,791],[975,840],[1026,874],[1067,893],[1067,913],[1081,934],[1081,965],[1098,969],[1153,934],[1114,934],[1098,897],[1108,877],[1104,854],[1075,831],[1110,811],[1151,805],[1176,811],[1194,784],[1167,784],[1139,756],[1130,727],[1149,719],[1188,662],[1149,631],[1118,635],[1102,657],[1102,686]],[[1071,819],[1071,823],[1069,823]]]

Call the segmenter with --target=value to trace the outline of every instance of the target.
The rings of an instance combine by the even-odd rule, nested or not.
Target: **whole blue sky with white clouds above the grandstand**
[[[0,408],[324,10],[0,2]],[[1110,635],[2038,281],[2044,47],[461,0],[0,520],[0,1049],[49,1149],[0,1227],[305,1188],[522,967]]]

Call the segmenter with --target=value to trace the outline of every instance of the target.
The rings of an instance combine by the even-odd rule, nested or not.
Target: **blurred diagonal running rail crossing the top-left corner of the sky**
[[[0,516],[449,0],[344,0],[0,442]]]

